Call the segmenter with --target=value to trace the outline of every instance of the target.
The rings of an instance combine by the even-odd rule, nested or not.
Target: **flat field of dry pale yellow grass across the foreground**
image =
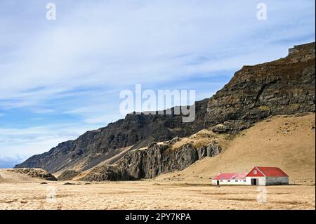
[[[257,202],[264,196],[256,186],[157,180],[47,183],[1,183],[0,209],[315,209],[315,185],[268,186],[267,202]]]

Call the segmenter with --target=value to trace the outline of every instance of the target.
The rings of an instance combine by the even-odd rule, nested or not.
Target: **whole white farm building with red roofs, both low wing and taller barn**
[[[247,173],[218,173],[213,185],[288,185],[289,176],[277,167],[255,166]]]

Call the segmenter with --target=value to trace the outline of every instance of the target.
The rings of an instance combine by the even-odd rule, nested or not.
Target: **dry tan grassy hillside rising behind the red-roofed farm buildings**
[[[278,166],[291,183],[315,183],[315,114],[261,121],[223,145],[220,155],[157,179],[209,181],[216,173],[247,172],[254,166]]]

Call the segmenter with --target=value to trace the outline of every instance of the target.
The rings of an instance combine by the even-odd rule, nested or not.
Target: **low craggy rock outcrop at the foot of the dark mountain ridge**
[[[161,173],[181,171],[198,159],[213,157],[221,151],[220,145],[213,142],[195,149],[185,144],[173,150],[171,145],[151,143],[148,149],[127,152],[116,166],[100,166],[93,169],[81,180],[140,180],[154,178]]]

